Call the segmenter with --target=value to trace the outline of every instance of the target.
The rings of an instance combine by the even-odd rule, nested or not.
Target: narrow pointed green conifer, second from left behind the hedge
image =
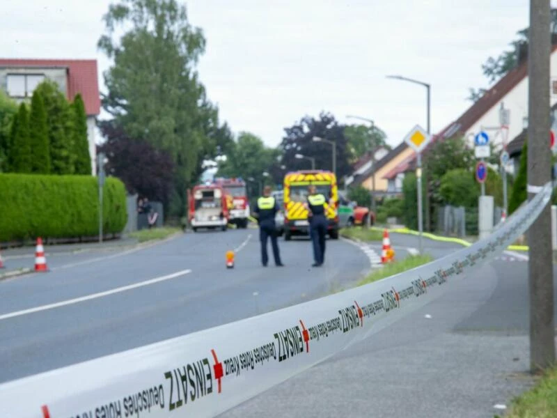
[[[47,112],[40,91],[33,92],[29,115],[29,139],[31,143],[31,172],[50,173],[50,150],[48,143]]]

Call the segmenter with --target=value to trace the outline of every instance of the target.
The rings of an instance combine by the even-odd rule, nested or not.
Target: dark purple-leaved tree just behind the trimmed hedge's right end
[[[99,125],[107,141],[99,151],[107,155],[107,173],[120,178],[130,193],[162,201],[166,206],[171,194],[174,163],[171,156],[148,142],[127,136],[113,121]]]

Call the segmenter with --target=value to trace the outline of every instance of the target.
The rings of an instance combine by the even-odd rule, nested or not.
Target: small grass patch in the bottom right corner
[[[528,392],[512,401],[505,418],[557,417],[557,369],[551,369]]]

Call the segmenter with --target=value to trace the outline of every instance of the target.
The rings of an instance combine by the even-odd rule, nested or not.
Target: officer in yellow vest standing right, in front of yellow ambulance
[[[308,187],[308,210],[309,231],[313,242],[313,263],[312,267],[320,267],[325,258],[325,235],[327,235],[327,217],[325,216],[325,203],[327,198],[321,193],[317,193],[315,186]]]

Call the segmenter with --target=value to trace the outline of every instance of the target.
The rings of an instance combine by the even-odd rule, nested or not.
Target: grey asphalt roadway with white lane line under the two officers
[[[230,270],[228,249],[237,251]],[[22,251],[3,251],[8,267],[33,265]],[[311,268],[304,239],[281,240],[284,268],[262,268],[252,229],[188,233],[145,249],[46,251],[52,272],[0,281],[0,382],[326,295],[370,268],[343,240],[328,240],[324,268]]]

